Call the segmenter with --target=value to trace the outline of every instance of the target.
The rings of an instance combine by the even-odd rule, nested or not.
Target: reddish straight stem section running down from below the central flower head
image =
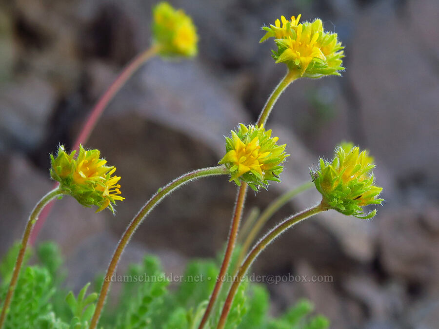
[[[229,267],[230,259],[232,258],[233,249],[235,248],[235,243],[236,243],[236,237],[238,235],[239,222],[242,214],[242,207],[244,206],[245,194],[247,194],[247,187],[244,185],[247,184],[242,182],[241,187],[238,189],[238,194],[235,203],[235,210],[233,212],[232,224],[230,226],[229,238],[227,242],[226,251],[224,254],[224,259],[222,260],[220,274],[218,275],[218,280],[215,283],[214,290],[212,291],[212,294],[210,296],[209,304],[207,304],[207,308],[204,311],[203,318],[201,319],[200,325],[198,327],[199,329],[204,327],[204,325],[207,322],[207,319],[209,318],[209,314],[215,304],[215,301],[217,300],[218,294],[220,293],[222,283],[224,282],[223,278],[224,275],[226,274],[227,268]]]

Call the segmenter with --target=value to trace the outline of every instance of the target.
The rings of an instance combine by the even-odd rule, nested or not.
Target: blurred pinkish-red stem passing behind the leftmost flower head
[[[120,88],[125,85],[126,81],[140,68],[140,66],[142,66],[142,64],[144,64],[148,59],[157,55],[159,50],[160,48],[158,46],[151,46],[150,48],[140,53],[136,58],[134,58],[123,68],[120,75],[116,78],[116,80],[113,81],[107,91],[102,95],[102,97],[100,97],[98,102],[90,111],[90,114],[84,121],[84,124],[82,125],[82,128],[75,140],[75,143],[73,144],[73,150],[79,150],[80,144],[84,144],[87,141],[108,103],[116,96],[116,94],[120,91]],[[59,183],[55,183],[54,188],[58,185]],[[40,220],[37,222],[37,225],[35,225],[35,228],[30,237],[31,245],[35,244],[41,227],[44,224],[47,216],[51,212],[52,207],[53,203],[49,203],[47,207],[45,207],[41,212]]]

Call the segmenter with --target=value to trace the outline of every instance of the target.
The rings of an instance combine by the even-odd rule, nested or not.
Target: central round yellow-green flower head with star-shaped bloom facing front
[[[238,131],[226,138],[226,155],[220,160],[230,171],[230,181],[240,186],[244,181],[255,191],[268,185],[269,180],[280,181],[280,165],[287,156],[286,145],[277,145],[278,137],[271,137],[271,130],[239,124]]]

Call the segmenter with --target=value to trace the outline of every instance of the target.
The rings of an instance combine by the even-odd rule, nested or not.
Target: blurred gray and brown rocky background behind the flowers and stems
[[[3,0],[0,3],[0,255],[52,186],[49,153],[72,144],[94,102],[150,42],[150,0]],[[86,147],[122,176],[126,200],[95,214],[58,201],[39,240],[61,245],[68,284],[104,271],[143,203],[187,171],[215,165],[223,135],[254,122],[284,74],[259,44],[280,15],[320,17],[346,46],[343,77],[299,80],[269,121],[291,157],[283,184],[249,193],[263,209],[307,180],[337,143],[368,148],[384,187],[371,221],[325,213],[262,254],[260,274],[332,275],[331,283],[269,286],[277,313],[310,298],[331,328],[439,328],[439,2],[437,0],[179,0],[200,34],[193,61],[155,58],[127,83]],[[179,273],[190,257],[214,257],[227,237],[236,188],[224,177],[175,192],[136,232],[120,271],[144,252]],[[309,191],[268,224],[319,201]]]

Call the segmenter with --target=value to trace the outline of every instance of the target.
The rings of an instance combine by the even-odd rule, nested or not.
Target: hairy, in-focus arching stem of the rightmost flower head
[[[294,224],[299,223],[305,218],[313,216],[317,213],[327,210],[326,205],[321,202],[319,205],[305,210],[301,213],[295,214],[283,222],[278,224],[274,229],[272,229],[264,238],[262,238],[258,244],[253,247],[252,251],[247,255],[244,262],[239,268],[238,273],[234,277],[232,286],[230,287],[229,294],[224,302],[224,306],[221,312],[220,321],[218,322],[217,329],[223,329],[227,320],[227,315],[229,314],[230,308],[232,306],[233,298],[235,297],[236,291],[238,290],[239,284],[243,279],[245,273],[247,273],[249,267],[252,265],[253,261],[258,257],[259,253],[262,252],[265,247],[267,247],[273,240],[275,240],[280,234],[288,230]]]

